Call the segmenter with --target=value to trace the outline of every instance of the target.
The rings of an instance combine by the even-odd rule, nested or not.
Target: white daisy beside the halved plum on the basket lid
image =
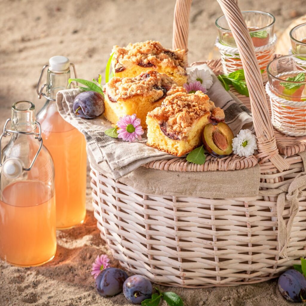
[[[241,130],[233,139],[233,150],[239,156],[251,156],[257,149],[256,136],[248,129]]]

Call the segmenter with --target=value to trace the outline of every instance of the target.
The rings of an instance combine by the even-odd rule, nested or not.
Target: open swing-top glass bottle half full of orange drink
[[[0,167],[0,257],[18,266],[40,265],[56,252],[54,166],[33,103],[13,104],[0,144],[7,135]]]

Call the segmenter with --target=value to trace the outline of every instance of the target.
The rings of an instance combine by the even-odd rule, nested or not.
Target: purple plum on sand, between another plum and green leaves
[[[142,275],[133,275],[123,284],[123,294],[133,304],[140,304],[152,296],[152,284]]]

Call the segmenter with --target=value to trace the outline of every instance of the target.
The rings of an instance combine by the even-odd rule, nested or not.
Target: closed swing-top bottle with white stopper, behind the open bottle
[[[83,223],[86,215],[85,137],[61,117],[54,102],[57,92],[68,88],[69,67],[69,59],[64,56],[50,58],[49,65],[44,66],[37,85],[39,97],[43,95],[47,99],[38,113],[38,121],[42,128],[43,142],[54,161],[56,227],[58,229]],[[45,68],[48,68],[47,84],[43,85],[39,91]],[[45,87],[46,94],[42,93]]]

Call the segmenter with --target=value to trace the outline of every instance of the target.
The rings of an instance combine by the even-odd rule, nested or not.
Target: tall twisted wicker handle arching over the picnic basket
[[[253,123],[259,151],[257,155],[257,158],[260,159],[259,164],[269,159],[282,172],[289,169],[289,164],[279,155],[276,146],[263,80],[247,25],[238,7],[237,0],[217,1],[230,26],[241,57],[245,80],[250,94]],[[174,48],[187,49],[188,26],[186,26],[186,18],[189,18],[190,5],[191,0],[177,0],[176,2],[173,28]]]

